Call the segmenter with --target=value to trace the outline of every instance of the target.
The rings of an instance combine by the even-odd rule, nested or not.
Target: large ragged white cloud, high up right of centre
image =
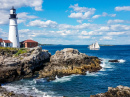
[[[79,7],[78,4],[71,5],[69,8],[72,8],[74,12],[71,12],[68,17],[76,19],[89,19],[96,10],[95,8]]]

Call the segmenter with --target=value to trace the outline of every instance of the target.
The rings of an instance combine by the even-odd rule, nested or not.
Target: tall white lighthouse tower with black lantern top
[[[12,7],[10,9],[10,24],[9,24],[9,40],[12,42],[12,47],[20,48],[19,45],[19,35],[17,28],[17,17],[16,17],[16,9]]]

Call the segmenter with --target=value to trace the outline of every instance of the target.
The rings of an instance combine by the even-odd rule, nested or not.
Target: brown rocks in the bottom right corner
[[[130,97],[130,88],[126,86],[108,87],[106,93],[91,95],[90,97]]]

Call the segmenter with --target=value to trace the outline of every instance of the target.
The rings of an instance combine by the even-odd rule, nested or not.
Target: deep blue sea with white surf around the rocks
[[[101,46],[100,50],[89,50],[87,45],[43,46],[53,55],[64,48],[78,49],[89,56],[97,56],[103,61],[99,72],[86,75],[70,75],[47,82],[45,79],[24,79],[8,83],[3,87],[16,93],[25,93],[36,97],[90,97],[103,93],[108,87],[124,85],[130,87],[130,45]],[[120,63],[109,63],[109,59],[118,59]]]

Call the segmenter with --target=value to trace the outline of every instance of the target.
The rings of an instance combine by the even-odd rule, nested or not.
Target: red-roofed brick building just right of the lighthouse
[[[25,40],[24,42],[22,42],[22,44],[25,48],[32,48],[38,46],[38,42],[34,40]]]

